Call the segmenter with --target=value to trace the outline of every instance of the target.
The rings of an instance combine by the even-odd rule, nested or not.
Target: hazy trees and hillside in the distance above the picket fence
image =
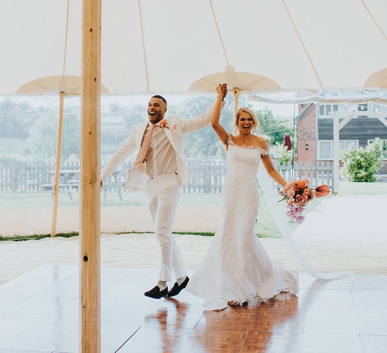
[[[216,99],[214,95],[191,96],[177,105],[169,105],[166,117],[180,114],[183,119],[195,117]],[[222,109],[220,123],[234,133],[234,97],[228,94]],[[57,104],[57,100],[55,102]],[[55,105],[54,104],[54,105]],[[0,100],[0,155],[17,160],[55,159],[58,134],[58,111],[50,104],[31,106],[30,103],[4,98]],[[289,132],[286,119],[273,116],[269,109],[256,111],[260,120],[260,136],[268,144],[282,144]],[[130,136],[133,127],[148,120],[146,105],[110,104],[101,113],[101,158],[105,160]],[[288,128],[289,127],[289,128]],[[280,131],[279,131],[280,130]],[[62,161],[77,160],[80,153],[80,107],[67,105],[63,114]],[[225,148],[211,126],[184,136],[184,152],[188,158],[225,157]],[[135,156],[131,156],[135,158]]]

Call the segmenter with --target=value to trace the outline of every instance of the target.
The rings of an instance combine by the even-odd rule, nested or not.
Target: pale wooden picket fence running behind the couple
[[[327,184],[333,190],[333,163],[294,162],[279,165],[274,162],[285,180],[307,177],[311,185]],[[225,160],[213,159],[188,159],[189,170],[188,187],[183,188],[184,193],[221,193],[227,175]],[[117,185],[125,183],[128,170],[132,167],[129,163],[123,163],[119,170],[113,174],[107,189],[117,189]],[[0,192],[34,192],[49,189],[53,184],[54,162],[36,161],[20,162],[12,161],[4,164],[0,162]],[[61,171],[79,171],[79,161],[66,162],[60,167]],[[72,175],[72,180],[61,184],[61,188],[77,189],[79,186],[79,172]]]

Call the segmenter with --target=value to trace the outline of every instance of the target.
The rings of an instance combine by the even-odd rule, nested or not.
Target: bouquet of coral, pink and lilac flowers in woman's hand
[[[309,179],[302,178],[300,180],[291,180],[285,185],[284,190],[280,192],[283,200],[287,200],[286,215],[301,224],[305,217],[302,215],[307,203],[314,199],[314,197],[324,197],[330,193],[328,185],[321,185],[315,189],[309,188]]]

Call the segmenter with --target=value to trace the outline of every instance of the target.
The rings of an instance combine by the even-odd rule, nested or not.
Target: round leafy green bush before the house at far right
[[[342,157],[341,174],[350,182],[372,183],[376,180],[375,173],[380,168],[379,139],[375,139],[367,147],[347,150]]]

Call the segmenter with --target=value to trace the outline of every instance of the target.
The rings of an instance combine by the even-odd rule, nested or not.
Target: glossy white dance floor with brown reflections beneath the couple
[[[387,352],[387,276],[320,281],[297,296],[205,311],[182,291],[153,300],[158,270],[101,269],[101,351]],[[0,353],[78,351],[78,267],[43,266],[0,286]]]

